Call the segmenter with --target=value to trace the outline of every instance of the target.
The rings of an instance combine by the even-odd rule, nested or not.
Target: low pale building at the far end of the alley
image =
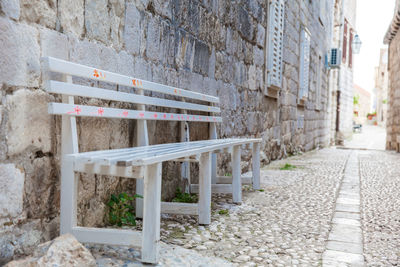
[[[354,122],[365,124],[371,111],[371,93],[354,84]]]

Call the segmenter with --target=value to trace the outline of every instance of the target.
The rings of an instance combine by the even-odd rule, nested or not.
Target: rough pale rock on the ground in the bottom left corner
[[[6,267],[88,266],[95,267],[96,260],[90,251],[74,236],[65,234],[39,245],[32,257],[12,261]]]

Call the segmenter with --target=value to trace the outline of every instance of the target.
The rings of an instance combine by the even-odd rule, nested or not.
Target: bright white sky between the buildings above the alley
[[[379,64],[383,37],[392,21],[396,0],[357,0],[356,29],[362,41],[354,55],[354,83],[365,90],[374,88],[374,67]]]

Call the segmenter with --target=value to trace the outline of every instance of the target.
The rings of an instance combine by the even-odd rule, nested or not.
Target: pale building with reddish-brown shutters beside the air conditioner
[[[353,132],[353,51],[356,33],[356,0],[335,1],[332,48],[341,51],[339,69],[332,69],[331,143],[341,144]]]

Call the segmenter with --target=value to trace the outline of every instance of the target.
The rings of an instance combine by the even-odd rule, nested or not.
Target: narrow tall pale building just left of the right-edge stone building
[[[380,126],[386,126],[388,87],[388,50],[382,48],[379,57],[379,66],[375,67],[376,121]]]

